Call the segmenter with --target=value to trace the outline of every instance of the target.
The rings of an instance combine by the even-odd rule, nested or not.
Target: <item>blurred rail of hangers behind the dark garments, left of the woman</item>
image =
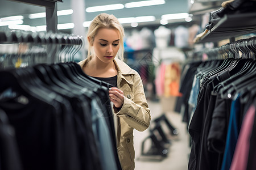
[[[0,44],[2,44],[2,62],[5,67],[14,67],[9,64],[9,59],[25,58],[26,65],[36,63],[58,63],[74,61],[74,56],[84,46],[84,39],[81,36],[67,35],[53,32],[0,32]],[[18,46],[10,50],[10,46]],[[6,48],[5,48],[6,46]],[[20,51],[20,49],[23,49]],[[10,56],[12,56],[10,58]],[[35,61],[36,58],[40,58]],[[2,67],[3,67],[2,66]]]

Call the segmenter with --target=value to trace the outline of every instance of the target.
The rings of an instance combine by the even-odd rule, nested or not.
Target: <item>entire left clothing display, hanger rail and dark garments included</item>
[[[0,44],[0,167],[121,169],[112,86],[72,62],[83,38],[0,32]]]

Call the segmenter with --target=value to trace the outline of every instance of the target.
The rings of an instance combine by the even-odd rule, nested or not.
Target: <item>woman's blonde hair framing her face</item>
[[[89,37],[90,42],[88,43],[88,58],[89,60],[92,59],[93,49],[92,49],[92,43],[94,41],[94,37],[96,36],[98,30],[100,28],[113,28],[117,29],[120,35],[120,48],[117,52],[117,56],[119,59],[123,61],[123,37],[125,36],[125,31],[123,29],[123,26],[119,23],[118,19],[113,14],[99,14],[97,15],[93,20],[92,23],[90,23],[87,37]]]

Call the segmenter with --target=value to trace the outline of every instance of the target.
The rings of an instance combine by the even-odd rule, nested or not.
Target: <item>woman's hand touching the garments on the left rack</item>
[[[109,99],[116,108],[121,108],[124,101],[123,91],[117,87],[109,88]]]

